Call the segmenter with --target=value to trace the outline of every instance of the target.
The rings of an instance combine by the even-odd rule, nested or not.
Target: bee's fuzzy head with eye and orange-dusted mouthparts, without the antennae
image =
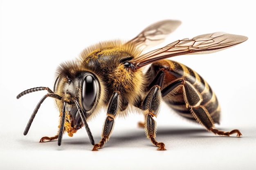
[[[68,116],[66,120],[72,128],[80,129],[82,127],[81,117],[74,100],[78,101],[85,118],[90,117],[99,102],[99,80],[94,73],[81,68],[76,62],[61,64],[57,73],[54,93],[62,97],[61,100],[56,100],[57,106],[61,110],[63,101],[66,101]]]

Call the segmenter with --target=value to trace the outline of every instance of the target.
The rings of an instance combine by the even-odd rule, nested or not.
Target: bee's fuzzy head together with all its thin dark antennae
[[[86,69],[79,67],[77,62],[63,63],[58,68],[58,77],[54,84],[54,90],[48,87],[36,87],[23,91],[17,99],[31,92],[47,90],[48,93],[38,102],[36,109],[29,119],[24,135],[27,135],[34,117],[40,105],[47,97],[56,99],[56,104],[61,113],[61,124],[59,126],[58,145],[61,145],[64,129],[69,136],[79,130],[82,126],[89,135],[91,144],[94,140],[86,119],[94,113],[100,96],[100,85],[96,75]]]

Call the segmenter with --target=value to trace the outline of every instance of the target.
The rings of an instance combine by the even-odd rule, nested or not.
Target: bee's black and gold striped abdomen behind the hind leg
[[[209,114],[213,118],[213,121],[215,123],[219,123],[220,106],[218,104],[217,97],[212,91],[211,87],[198,73],[178,62],[172,60],[163,60],[153,63],[147,74],[150,76],[150,79],[154,79],[160,70],[164,71],[165,73],[161,89],[164,89],[177,78],[185,78],[187,81],[193,84],[193,86],[195,86],[198,92],[202,95],[203,101],[201,105],[208,110]],[[179,115],[189,119],[194,119],[190,109],[186,108],[182,88],[177,91],[175,95],[166,95],[163,97],[163,99],[164,102],[173,108]]]

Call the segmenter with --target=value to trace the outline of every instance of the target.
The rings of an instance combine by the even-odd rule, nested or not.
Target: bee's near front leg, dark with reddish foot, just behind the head
[[[102,134],[101,134],[101,141],[99,144],[95,144],[93,147],[93,151],[97,151],[99,148],[102,148],[104,143],[109,140],[111,132],[113,130],[115,124],[115,116],[117,115],[117,111],[119,111],[119,91],[115,91],[111,97],[110,103],[108,105],[108,113],[106,120],[104,122]]]

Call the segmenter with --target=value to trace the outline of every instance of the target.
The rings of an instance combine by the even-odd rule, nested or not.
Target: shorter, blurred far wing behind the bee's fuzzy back
[[[178,26],[181,22],[178,20],[164,20],[148,26],[137,37],[128,41],[126,44],[134,44],[142,49],[149,49],[152,46],[164,42],[164,39]]]

